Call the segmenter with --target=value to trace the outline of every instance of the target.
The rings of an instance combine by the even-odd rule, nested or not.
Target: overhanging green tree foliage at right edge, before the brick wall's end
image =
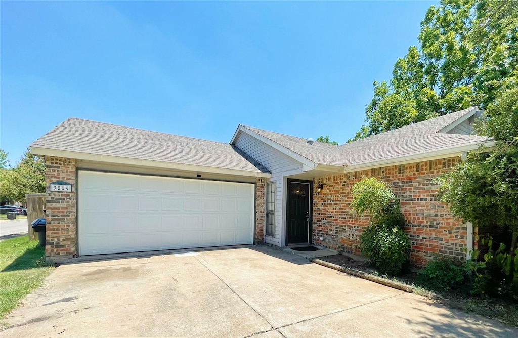
[[[476,125],[479,134],[492,137],[495,146],[468,154],[467,161],[439,179],[439,196],[453,215],[476,227],[490,224],[503,229],[508,245],[484,238],[485,262],[498,265],[518,298],[518,72],[500,83],[500,92]],[[479,267],[485,268],[485,262]],[[491,279],[477,272],[479,280]],[[484,278],[482,278],[484,277]],[[486,283],[486,282],[484,282]]]

